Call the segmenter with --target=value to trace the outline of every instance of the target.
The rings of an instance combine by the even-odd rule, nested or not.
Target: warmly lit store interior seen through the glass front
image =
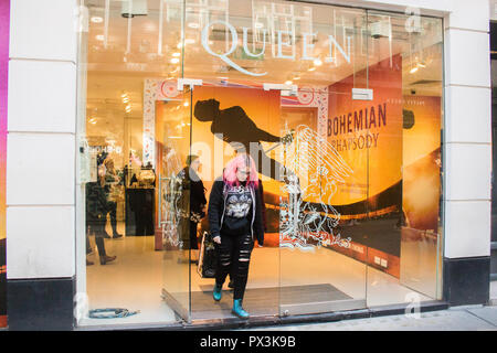
[[[84,131],[78,132],[89,151],[87,182],[97,180],[101,164],[113,175],[107,181],[107,197],[115,213],[107,214],[109,237],[104,242],[107,255],[116,259],[101,264],[95,237],[89,236],[91,253],[83,275],[89,310],[126,308],[139,312],[105,320],[86,317],[80,325],[233,319],[228,282],[223,299],[214,303],[214,280],[202,278],[199,265],[190,261],[199,255],[175,244],[163,223],[170,216],[165,205],[165,175],[178,173],[188,154],[200,156],[200,175],[209,200],[213,180],[235,154],[213,136],[209,122],[195,119],[195,103],[204,99],[220,100],[223,109],[241,106],[260,129],[275,136],[283,137],[290,128],[298,137],[304,136],[298,135],[300,131],[311,131],[319,147],[327,146],[324,153],[328,154],[324,156],[338,153],[353,169],[350,184],[356,189],[347,181],[342,184],[349,189],[337,186],[327,194],[327,201],[331,201],[325,204],[339,214],[339,221],[329,223],[328,235],[319,229],[317,240],[294,237],[290,242],[282,235],[282,202],[286,200],[282,183],[261,173],[267,234],[264,246],[256,245],[252,254],[244,299],[252,317],[345,311],[441,298],[443,43],[438,19],[420,18],[419,23],[413,21],[417,28],[410,31],[408,23],[412,23],[404,14],[289,1],[149,0],[138,1],[145,7],[135,4],[133,10],[126,3],[85,1],[89,25],[81,42],[86,88],[84,96],[80,95],[85,108],[80,117]],[[129,11],[133,17],[126,15]],[[236,28],[239,47],[244,41],[241,28],[251,28],[252,53],[266,47],[256,34],[265,38],[263,30],[267,29],[267,55],[247,57],[246,49],[245,54],[242,50],[230,54],[233,61],[209,55],[205,45],[214,53],[230,50],[232,42],[226,38],[232,40],[233,33],[226,32],[228,26],[222,31],[211,26],[209,43],[201,43],[202,29],[221,20]],[[278,35],[273,33],[278,29],[279,33],[283,29],[283,33],[300,33],[294,36],[294,46],[278,47]],[[314,45],[306,49],[306,35],[302,33],[315,32]],[[337,40],[335,46],[331,34]],[[352,43],[350,52],[347,38]],[[279,41],[292,44],[292,36],[279,35]],[[313,51],[313,60],[302,60],[310,56],[305,54],[307,50]],[[282,58],[292,55],[297,58]],[[331,56],[334,63],[329,63]],[[235,68],[239,64],[240,69]],[[180,78],[202,79],[202,85],[181,92]],[[298,89],[264,90],[265,83],[296,85]],[[351,88],[371,88],[374,98],[355,100]],[[378,128],[381,113],[387,116],[384,130],[374,132],[370,126],[367,133],[357,131],[351,142],[340,139],[340,119],[334,118],[370,109],[371,119],[371,107],[377,109]],[[382,107],[388,107],[388,115]],[[421,132],[409,135],[406,130],[415,124],[422,127]],[[302,126],[307,130],[299,130]],[[371,136],[370,143],[377,143],[378,149],[359,151],[362,136],[364,143]],[[221,159],[205,150],[215,151],[218,143]],[[358,151],[347,143],[356,143]],[[267,157],[285,162],[287,154],[281,158],[283,145],[261,145]],[[168,164],[171,150],[176,156]],[[433,162],[427,163],[426,157]],[[314,165],[305,173],[317,173],[319,168]],[[300,174],[306,190],[313,190],[313,180]],[[419,175],[421,184],[413,183]],[[417,200],[420,188],[425,186],[431,192]],[[319,195],[326,194],[321,179],[316,188]],[[318,203],[311,196],[307,202]],[[205,221],[199,224],[199,246],[208,229]]]

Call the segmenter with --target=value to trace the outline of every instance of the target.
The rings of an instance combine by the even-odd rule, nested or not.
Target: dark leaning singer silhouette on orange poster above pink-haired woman
[[[212,121],[211,132],[223,141],[230,143],[237,153],[247,152],[254,159],[257,171],[268,178],[281,181],[284,175],[292,174],[285,167],[266,156],[261,141],[292,142],[292,136],[279,138],[257,128],[254,121],[240,106],[219,109],[220,103],[215,99],[199,100],[195,104],[193,116],[199,121]],[[263,168],[263,165],[265,168]]]

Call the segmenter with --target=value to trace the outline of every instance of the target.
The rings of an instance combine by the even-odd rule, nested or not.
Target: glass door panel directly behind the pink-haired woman
[[[258,171],[258,191],[262,190],[266,233],[264,246],[257,240],[251,253],[243,308],[251,317],[275,315],[279,300],[278,263],[278,191],[281,183],[275,180],[277,162],[272,160],[279,141],[279,90],[264,90],[250,85],[202,86],[193,90],[192,146],[191,152],[201,162],[200,180],[212,194],[213,182],[223,174],[228,163],[239,153],[248,152]],[[272,150],[273,149],[273,150]],[[272,150],[271,152],[264,152]],[[277,153],[276,153],[277,154]],[[236,196],[236,194],[234,195]],[[234,197],[233,196],[233,197]],[[236,197],[235,197],[236,199]],[[243,203],[225,199],[225,208],[218,210],[224,220],[243,215]],[[240,201],[240,200],[239,200]],[[211,202],[211,201],[209,201]],[[230,205],[228,205],[230,204]],[[209,205],[211,210],[211,205]],[[251,208],[253,214],[253,207]],[[209,211],[211,212],[211,211]],[[247,215],[250,220],[250,215]],[[255,221],[254,221],[255,222]],[[256,239],[255,225],[253,226]],[[200,234],[209,231],[208,220],[200,224]],[[229,235],[226,224],[222,223],[221,242],[243,239],[239,234]],[[231,243],[230,243],[231,244]],[[231,247],[233,249],[233,247]],[[230,252],[230,254],[233,254]],[[240,253],[243,257],[243,253]],[[221,255],[220,255],[221,256]],[[222,299],[212,299],[214,280],[201,278],[192,272],[191,306],[192,320],[233,318],[234,290],[228,287],[236,274],[243,277],[243,260],[232,256],[229,261],[232,270],[225,279]],[[233,275],[233,277],[232,277]],[[236,284],[236,281],[234,281]]]

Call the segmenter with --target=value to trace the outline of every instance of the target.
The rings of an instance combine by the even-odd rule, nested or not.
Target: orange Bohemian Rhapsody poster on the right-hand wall
[[[372,100],[353,100],[358,77],[368,75]],[[381,61],[329,86],[327,141],[350,172],[331,200],[337,232],[350,238],[335,249],[399,276],[402,215],[402,58]]]

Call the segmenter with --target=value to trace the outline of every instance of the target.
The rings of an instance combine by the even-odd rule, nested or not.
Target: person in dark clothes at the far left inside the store
[[[105,194],[105,156],[97,157],[98,178],[96,182],[86,184],[86,225],[89,234],[95,235],[95,244],[98,249],[101,265],[107,265],[116,259],[116,256],[108,256],[105,250],[105,224],[108,212],[107,196]],[[87,246],[89,242],[87,242]],[[89,249],[87,249],[88,253]],[[92,263],[87,265],[93,265]]]

